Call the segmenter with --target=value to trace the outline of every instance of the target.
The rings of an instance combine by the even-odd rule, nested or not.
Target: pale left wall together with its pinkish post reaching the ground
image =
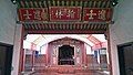
[[[0,42],[13,45],[11,75],[18,75],[21,25],[16,23],[17,6],[11,0],[0,0]]]

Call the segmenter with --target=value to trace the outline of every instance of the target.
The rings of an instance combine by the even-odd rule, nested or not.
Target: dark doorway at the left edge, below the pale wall
[[[0,75],[11,75],[12,45],[0,43]]]

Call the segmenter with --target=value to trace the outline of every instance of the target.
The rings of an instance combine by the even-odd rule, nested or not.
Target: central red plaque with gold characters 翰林
[[[50,7],[50,21],[81,21],[81,7]]]

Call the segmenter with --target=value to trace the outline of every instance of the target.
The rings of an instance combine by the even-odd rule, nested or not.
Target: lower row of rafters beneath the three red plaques
[[[23,23],[28,33],[104,33],[108,23]]]

